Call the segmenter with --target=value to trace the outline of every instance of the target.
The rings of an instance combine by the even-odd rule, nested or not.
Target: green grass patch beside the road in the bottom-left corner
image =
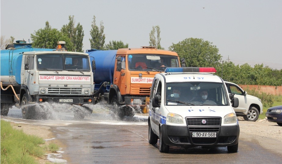
[[[43,157],[47,151],[56,152],[58,145],[34,135],[13,129],[9,122],[1,120],[1,163],[38,163],[36,157]]]

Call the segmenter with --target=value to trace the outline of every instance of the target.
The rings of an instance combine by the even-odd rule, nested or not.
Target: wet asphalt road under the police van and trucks
[[[62,163],[281,163],[282,155],[260,146],[255,135],[240,131],[237,153],[227,148],[204,149],[170,147],[160,153],[159,145],[148,143],[148,119],[144,115],[116,120],[107,107],[95,106],[94,113],[76,121],[73,113],[52,113],[51,120],[24,120],[21,110],[10,109],[1,119],[50,127],[65,147]],[[239,121],[240,124],[240,121]],[[246,139],[248,138],[248,139]],[[282,144],[281,144],[282,146]],[[281,148],[281,147],[280,147]],[[279,151],[278,151],[279,152]],[[281,148],[282,153],[282,148]],[[57,161],[59,163],[59,161]]]

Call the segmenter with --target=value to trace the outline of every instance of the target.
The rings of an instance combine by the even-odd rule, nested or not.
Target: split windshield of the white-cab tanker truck
[[[89,59],[85,55],[76,54],[39,54],[36,56],[37,69],[56,71],[90,71]]]

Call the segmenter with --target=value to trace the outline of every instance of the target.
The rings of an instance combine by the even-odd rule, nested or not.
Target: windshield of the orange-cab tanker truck
[[[129,54],[127,56],[130,71],[164,71],[166,67],[179,67],[178,57],[157,54]]]

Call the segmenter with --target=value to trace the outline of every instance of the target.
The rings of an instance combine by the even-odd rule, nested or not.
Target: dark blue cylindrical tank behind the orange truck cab
[[[96,70],[94,70],[94,82],[95,84],[101,84],[103,82],[110,82],[113,84],[114,77],[114,64],[118,50],[87,50],[90,61],[95,59]],[[92,58],[93,57],[93,58]]]

